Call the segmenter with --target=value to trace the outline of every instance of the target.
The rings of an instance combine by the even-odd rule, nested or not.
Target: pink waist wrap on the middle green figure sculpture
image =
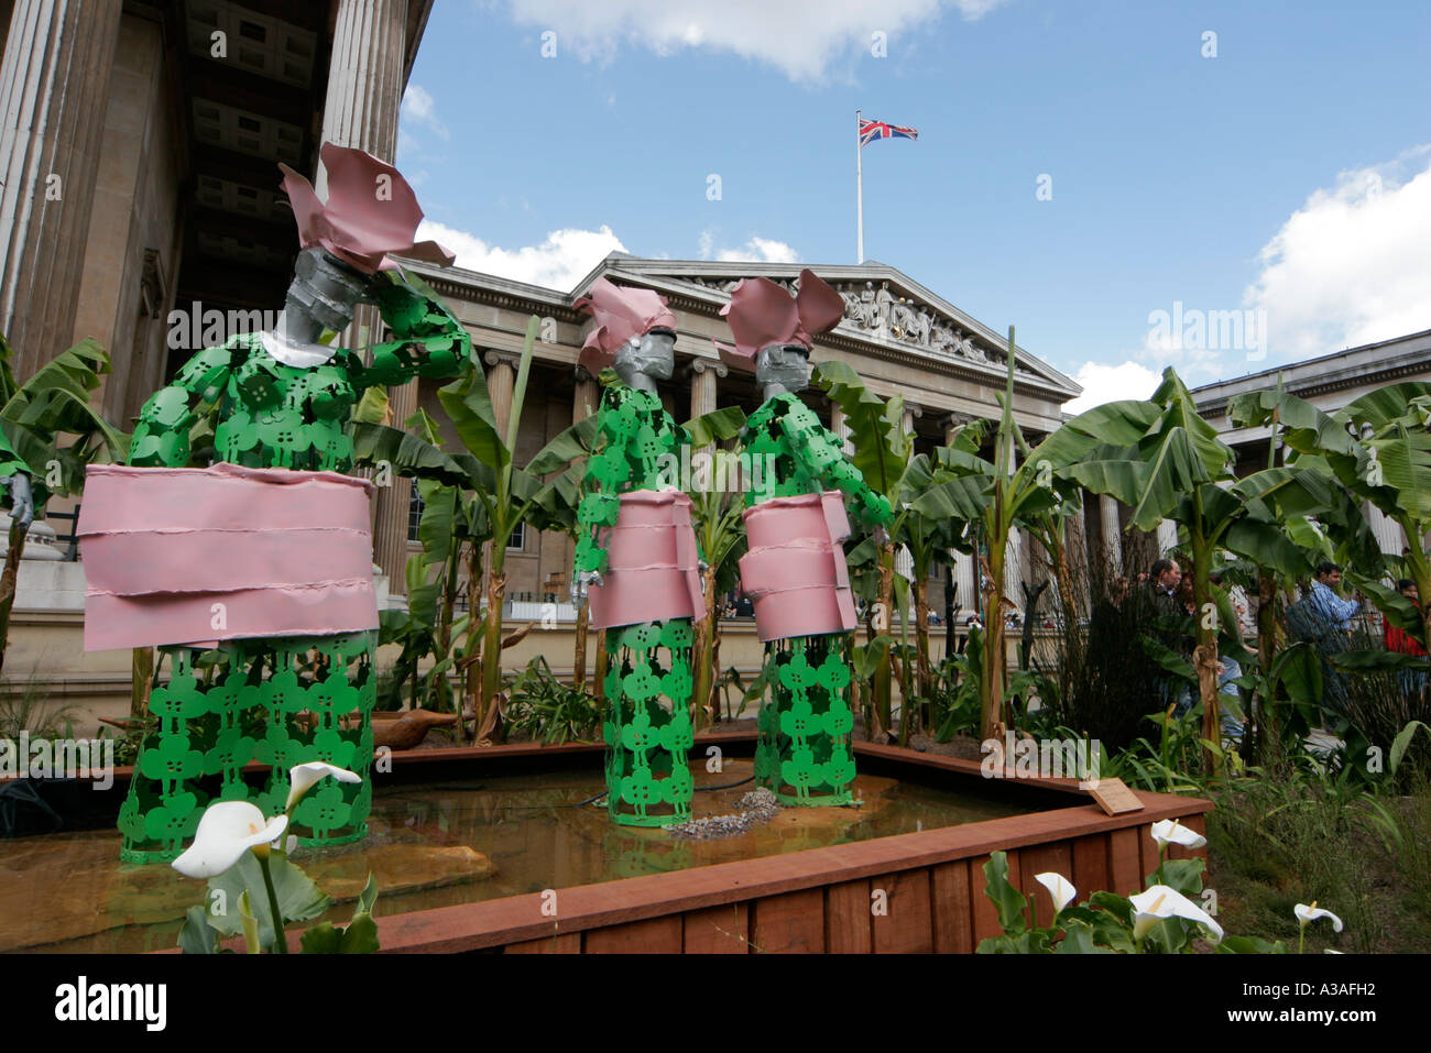
[[[607,572],[587,594],[594,628],[705,617],[688,496],[655,489],[622,494],[617,525],[600,541]]]

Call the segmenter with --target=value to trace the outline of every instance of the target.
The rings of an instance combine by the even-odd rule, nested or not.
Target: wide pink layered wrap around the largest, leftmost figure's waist
[[[372,489],[338,472],[90,465],[84,650],[378,628]]]

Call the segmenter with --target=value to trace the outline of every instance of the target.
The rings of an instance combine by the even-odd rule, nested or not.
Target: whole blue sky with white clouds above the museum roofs
[[[854,110],[912,124],[866,256],[1103,401],[1431,328],[1428,56],[1410,1],[442,0],[398,166],[461,266],[570,289],[853,263]]]

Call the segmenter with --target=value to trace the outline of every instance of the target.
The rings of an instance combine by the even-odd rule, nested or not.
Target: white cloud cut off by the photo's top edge
[[[509,0],[514,21],[557,34],[558,54],[610,62],[622,43],[667,56],[683,47],[734,52],[791,80],[817,82],[841,56],[869,54],[943,10],[975,20],[1006,0]]]

